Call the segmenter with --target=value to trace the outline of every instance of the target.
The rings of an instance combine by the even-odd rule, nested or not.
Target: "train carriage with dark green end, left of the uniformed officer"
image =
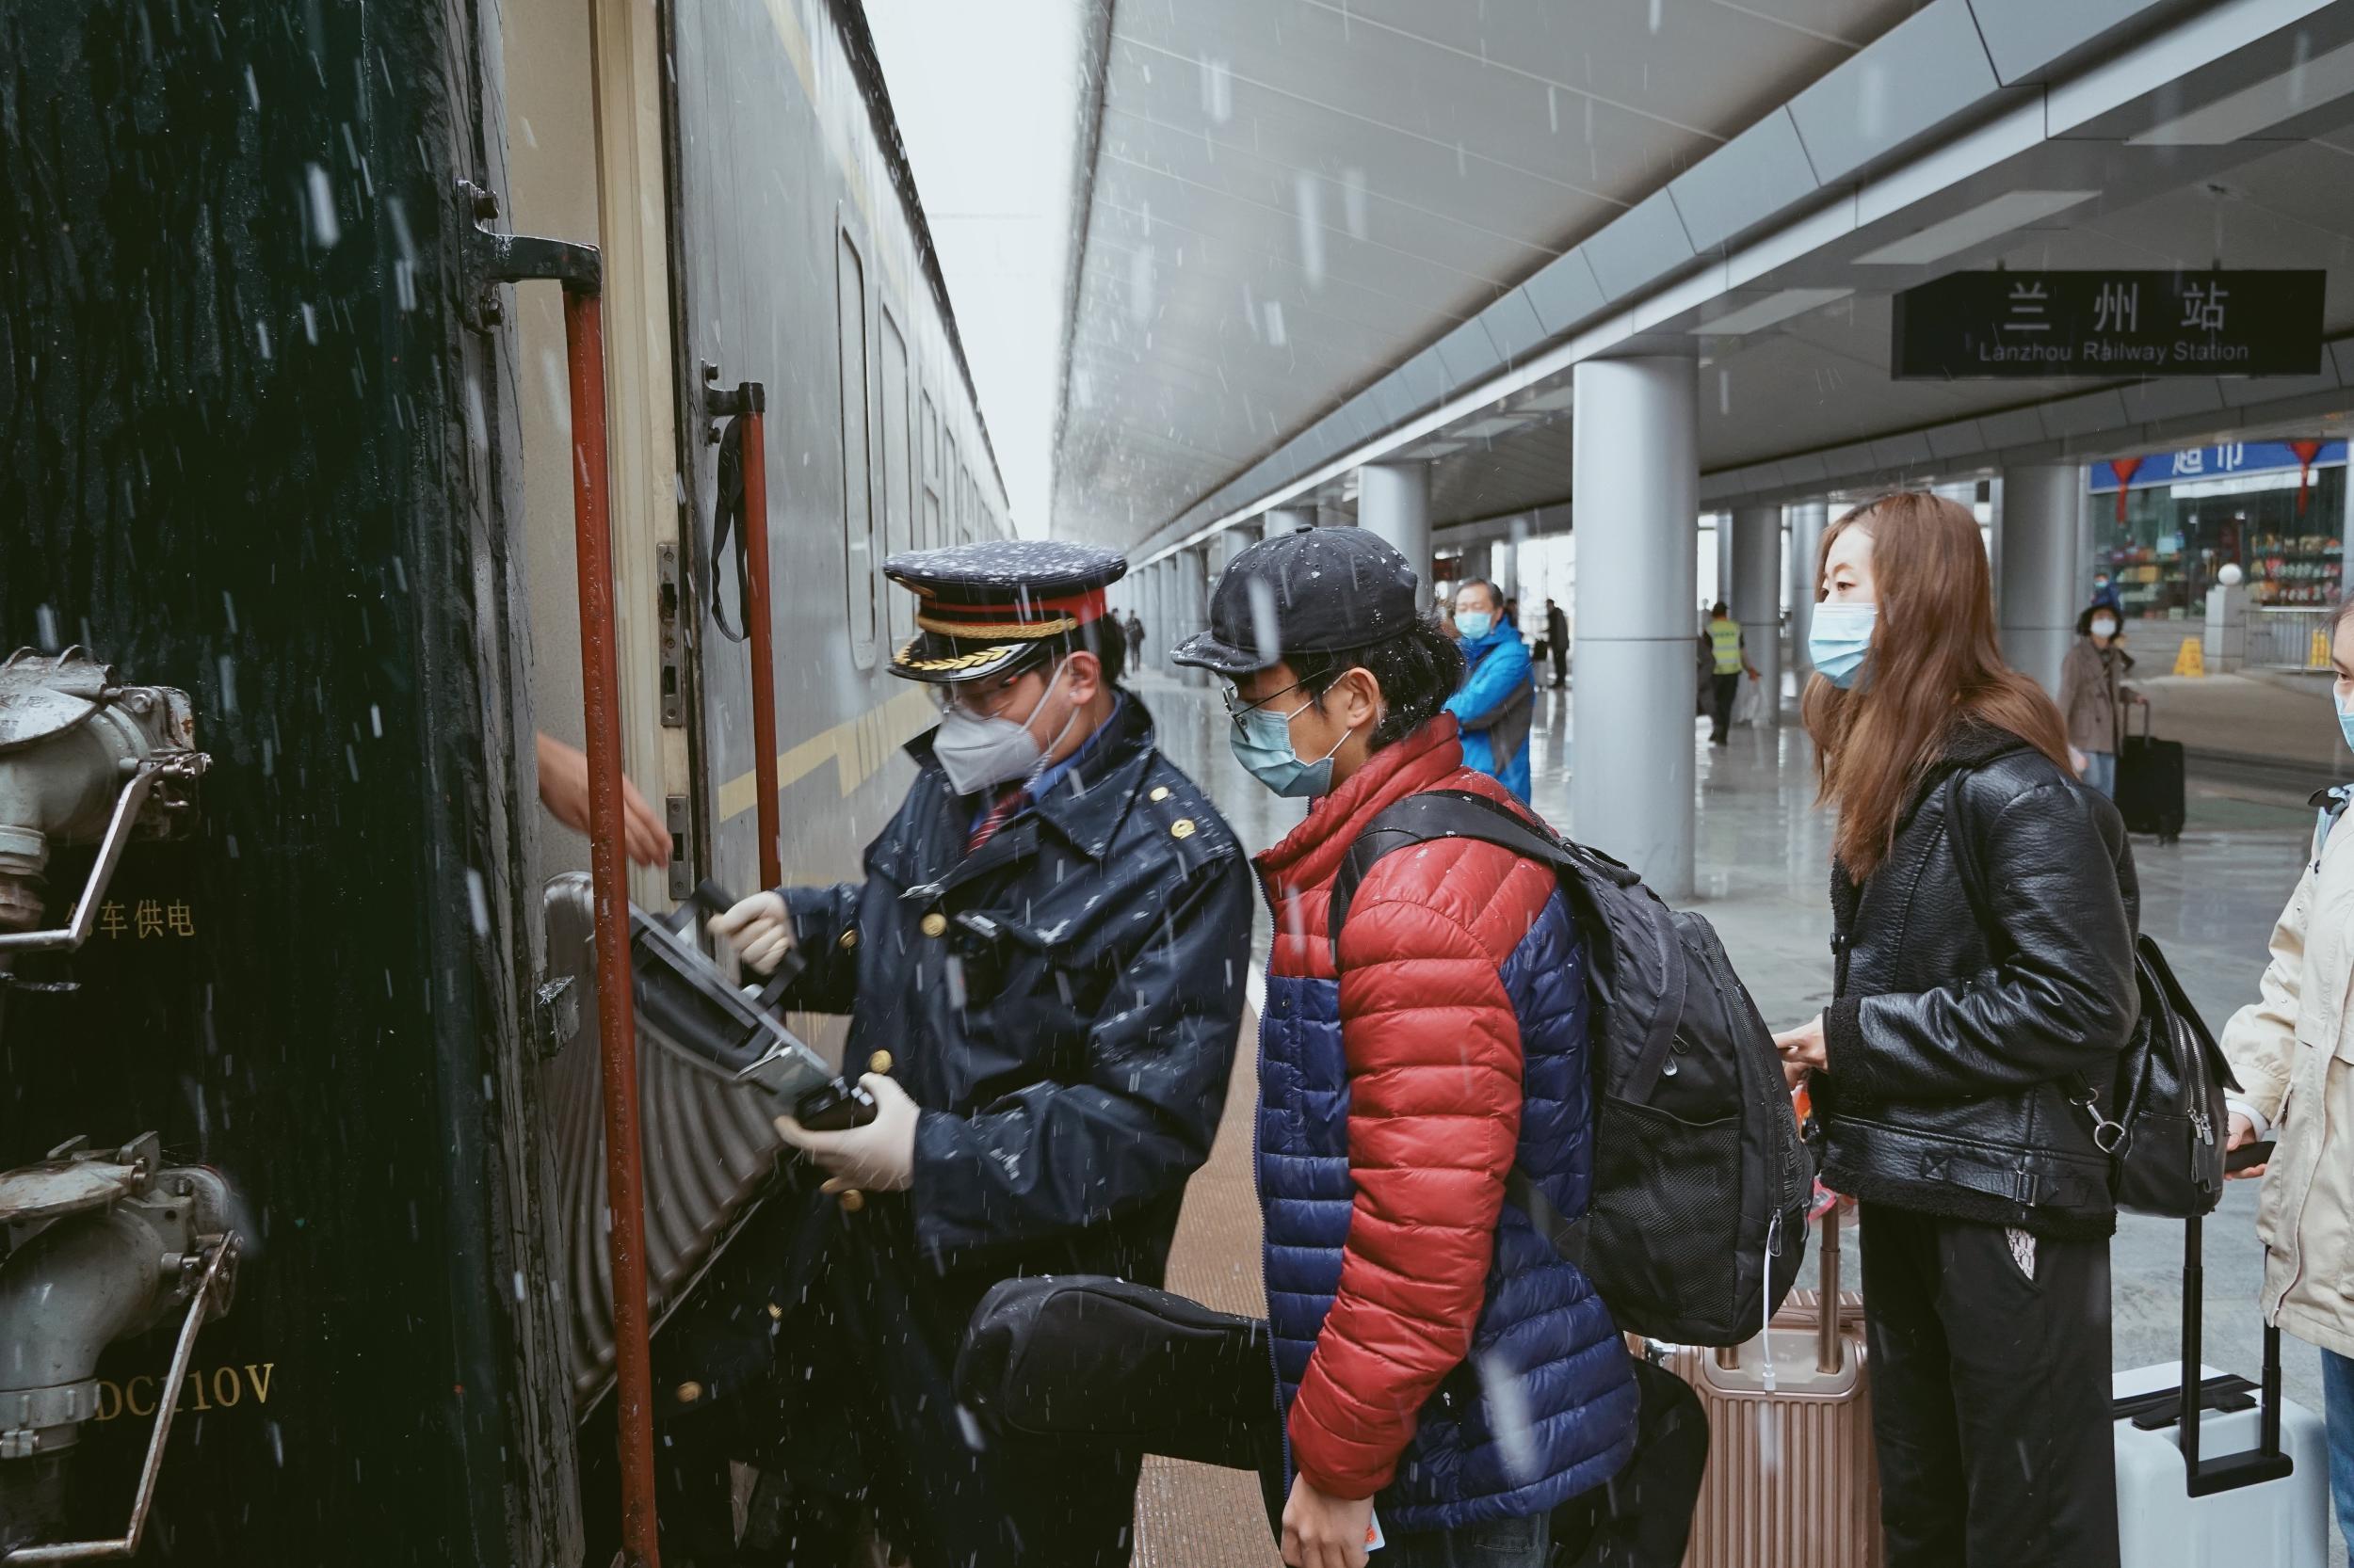
[[[530,758],[581,739],[591,426],[563,285],[497,275],[596,271],[614,718],[676,843],[631,895],[760,876],[713,549],[746,384],[774,855],[855,873],[930,723],[880,563],[1005,530],[864,19],[5,7],[0,212],[0,640],[28,650],[0,671],[0,1342],[54,1351],[40,1384],[0,1368],[0,1547],[581,1561],[614,1354],[588,857]],[[144,803],[24,786],[99,725],[146,749]],[[99,784],[122,810],[92,826]],[[770,1135],[661,1059],[640,1088],[659,1318]],[[132,1210],[184,1253],[66,1323],[101,1297],[61,1238]]]

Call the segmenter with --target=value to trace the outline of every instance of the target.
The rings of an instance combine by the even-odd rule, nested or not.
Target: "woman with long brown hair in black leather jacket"
[[[1888,1563],[2107,1568],[2116,1210],[2072,1092],[2135,1022],[2126,829],[2003,664],[1966,509],[1831,525],[1808,640],[1836,1001],[1775,1043],[1862,1201]]]

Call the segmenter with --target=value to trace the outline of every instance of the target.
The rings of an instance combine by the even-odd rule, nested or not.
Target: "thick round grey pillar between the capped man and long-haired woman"
[[[1693,895],[1697,370],[1690,356],[1645,356],[1572,374],[1570,831],[1681,902]]]

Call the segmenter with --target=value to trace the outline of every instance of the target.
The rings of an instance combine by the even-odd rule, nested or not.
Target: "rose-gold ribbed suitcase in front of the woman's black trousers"
[[[1864,1302],[1838,1290],[1838,1205],[1822,1215],[1822,1290],[1794,1290],[1773,1333],[1669,1363],[1709,1417],[1709,1469],[1685,1568],[1878,1568]]]

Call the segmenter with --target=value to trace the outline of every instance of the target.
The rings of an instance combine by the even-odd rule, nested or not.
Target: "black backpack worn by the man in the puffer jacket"
[[[1328,911],[1335,968],[1365,871],[1431,838],[1551,866],[1584,935],[1594,1203],[1563,1224],[1521,1170],[1507,1196],[1587,1271],[1620,1328],[1676,1344],[1761,1333],[1798,1276],[1815,1168],[1782,1057],[1716,930],[1608,855],[1485,796],[1434,789],[1384,808],[1349,845]]]

